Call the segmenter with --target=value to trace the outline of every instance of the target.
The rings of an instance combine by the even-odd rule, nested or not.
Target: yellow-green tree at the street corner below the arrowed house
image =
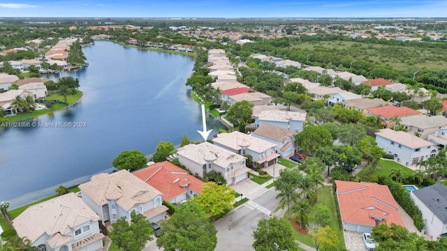
[[[207,215],[221,215],[233,208],[235,191],[226,185],[207,182],[203,185],[200,196],[193,199]]]

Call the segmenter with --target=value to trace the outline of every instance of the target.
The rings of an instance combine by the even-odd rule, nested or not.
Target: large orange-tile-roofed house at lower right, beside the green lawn
[[[344,230],[371,233],[372,227],[395,223],[405,227],[399,206],[386,185],[335,181]]]

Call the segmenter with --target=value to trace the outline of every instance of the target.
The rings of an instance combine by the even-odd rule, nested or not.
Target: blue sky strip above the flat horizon
[[[0,17],[447,17],[447,1],[0,0]]]

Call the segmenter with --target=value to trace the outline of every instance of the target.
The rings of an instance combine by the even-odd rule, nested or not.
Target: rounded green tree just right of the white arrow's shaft
[[[240,132],[245,132],[245,126],[251,121],[251,115],[253,115],[254,105],[247,100],[235,102],[230,106],[226,113],[226,119],[233,123],[233,126],[239,128]]]

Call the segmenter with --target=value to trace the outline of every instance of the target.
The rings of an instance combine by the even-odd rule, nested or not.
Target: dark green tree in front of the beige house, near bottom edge
[[[123,251],[142,250],[147,241],[152,241],[152,225],[141,213],[131,213],[131,223],[125,217],[119,218],[112,223],[113,230],[109,236]]]

